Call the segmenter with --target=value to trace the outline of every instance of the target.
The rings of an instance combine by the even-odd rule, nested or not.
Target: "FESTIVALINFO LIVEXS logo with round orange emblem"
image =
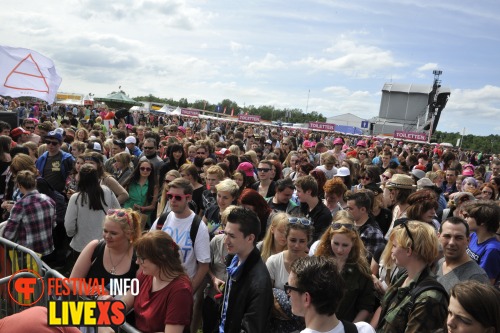
[[[16,275],[23,273],[22,276]],[[31,273],[33,276],[25,277]],[[46,287],[46,288],[45,288]],[[32,306],[48,295],[47,315],[49,326],[119,326],[125,322],[125,304],[118,300],[74,300],[86,295],[97,298],[113,295],[121,297],[126,291],[139,294],[138,279],[48,278],[46,282],[35,271],[23,269],[9,279],[10,298],[21,306]],[[11,293],[13,290],[15,293]],[[67,300],[73,296],[73,300]],[[42,304],[45,305],[45,304]]]

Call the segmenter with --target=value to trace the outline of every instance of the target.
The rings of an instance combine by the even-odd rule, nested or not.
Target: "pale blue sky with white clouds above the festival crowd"
[[[60,92],[230,99],[378,116],[386,82],[451,96],[437,130],[498,134],[497,0],[3,0],[0,44],[56,65]]]

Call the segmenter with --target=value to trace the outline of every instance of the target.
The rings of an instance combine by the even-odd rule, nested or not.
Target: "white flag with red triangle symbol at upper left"
[[[54,102],[61,77],[54,62],[36,51],[0,45],[0,95]]]

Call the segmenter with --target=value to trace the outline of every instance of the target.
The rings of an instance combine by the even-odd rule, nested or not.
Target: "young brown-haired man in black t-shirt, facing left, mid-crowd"
[[[301,212],[311,220],[314,233],[311,244],[317,241],[332,223],[332,213],[318,198],[318,183],[313,176],[299,177],[295,182],[297,197],[301,204]]]

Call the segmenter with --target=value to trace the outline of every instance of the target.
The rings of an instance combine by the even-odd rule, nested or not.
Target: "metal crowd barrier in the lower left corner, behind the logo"
[[[89,300],[85,296],[68,295],[57,296],[49,295],[49,278],[64,278],[61,273],[50,268],[44,263],[37,253],[16,244],[10,240],[0,237],[0,319],[6,316],[19,313],[27,308],[25,305],[33,303],[34,299],[26,300],[13,288],[19,278],[35,278],[36,284],[33,286],[34,295],[42,295],[33,305],[47,307],[49,300]],[[10,288],[9,288],[9,281]],[[17,302],[16,302],[17,301]],[[20,303],[20,304],[19,304]],[[92,328],[87,332],[92,331]],[[96,330],[97,331],[97,330]],[[123,333],[141,333],[128,323],[119,327],[118,332]]]

